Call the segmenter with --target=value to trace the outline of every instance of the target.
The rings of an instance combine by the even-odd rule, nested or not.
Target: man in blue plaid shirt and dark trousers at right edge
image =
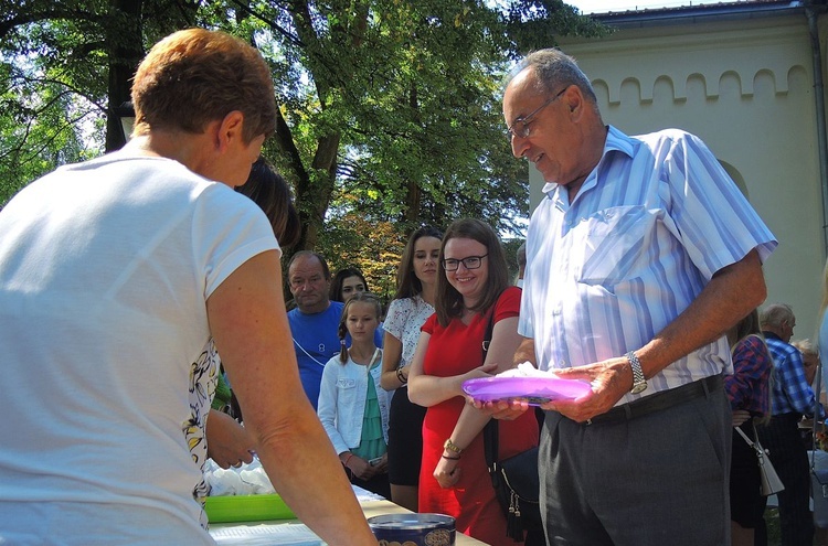
[[[785,303],[769,304],[760,311],[760,324],[774,358],[771,393],[773,416],[771,422],[756,427],[756,431],[785,484],[785,490],[776,494],[782,544],[810,545],[814,540],[814,520],[809,506],[808,448],[798,425],[804,415],[814,415],[816,399],[806,376],[803,353],[790,344],[796,328],[794,310]],[[821,406],[817,417],[825,417]],[[767,544],[764,522],[760,522],[756,529],[756,544]]]

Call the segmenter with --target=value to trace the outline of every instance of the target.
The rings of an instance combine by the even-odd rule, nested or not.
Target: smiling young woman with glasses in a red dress
[[[408,396],[427,407],[423,424],[420,511],[448,514],[457,531],[491,545],[513,545],[484,456],[488,415],[466,404],[461,385],[512,367],[520,344],[521,290],[509,286],[495,231],[477,220],[452,224],[443,237],[435,314],[423,325],[408,377]],[[484,362],[482,342],[492,333]],[[538,445],[538,421],[527,411],[499,424],[499,453]]]

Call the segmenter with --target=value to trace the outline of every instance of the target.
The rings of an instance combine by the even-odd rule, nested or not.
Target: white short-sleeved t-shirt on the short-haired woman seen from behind
[[[125,151],[0,212],[0,543],[212,544],[205,301],[272,249],[247,197]]]

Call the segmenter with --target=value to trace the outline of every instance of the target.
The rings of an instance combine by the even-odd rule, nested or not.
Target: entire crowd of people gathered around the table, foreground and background
[[[545,180],[518,279],[492,227],[460,218],[410,235],[388,310],[360,270],[295,253],[288,311],[299,224],[259,157],[278,118],[259,53],[174,33],[132,100],[123,150],[0,213],[0,543],[212,544],[201,465],[255,456],[328,544],[374,542],[355,484],[512,545],[496,418],[501,457],[540,446],[529,545],[766,544],[743,438],[785,484],[783,544],[810,544],[798,424],[825,418],[820,353],[792,344],[790,307],[762,307],[777,243],[697,137],[605,125],[574,60],[534,52],[503,96],[513,154]],[[592,389],[538,414],[464,395],[523,362]]]

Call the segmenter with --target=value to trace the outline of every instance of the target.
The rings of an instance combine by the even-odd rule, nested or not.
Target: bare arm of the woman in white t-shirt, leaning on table
[[[329,544],[376,544],[299,381],[275,250],[236,269],[208,299],[210,329],[276,490]]]

